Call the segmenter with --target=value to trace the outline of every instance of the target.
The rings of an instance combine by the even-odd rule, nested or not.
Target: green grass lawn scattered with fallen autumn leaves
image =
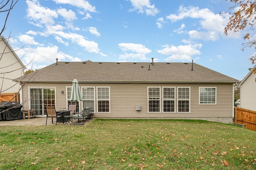
[[[256,169],[256,132],[198,120],[1,126],[1,170]]]

